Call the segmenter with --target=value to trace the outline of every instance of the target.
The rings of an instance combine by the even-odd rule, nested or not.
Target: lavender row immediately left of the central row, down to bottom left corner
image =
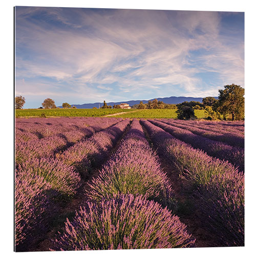
[[[33,155],[26,160],[23,158],[23,161],[20,161],[20,158],[17,159],[15,170],[16,250],[26,250],[27,246],[39,237],[39,234],[47,232],[49,223],[57,214],[60,204],[70,200],[79,188],[80,170],[86,169],[89,172],[92,165],[97,163],[96,158],[104,159],[128,123],[129,120],[118,122],[90,138],[82,139],[56,155],[52,150],[47,151],[48,145],[52,145],[48,143],[41,144],[45,146],[41,150],[48,152],[47,156]],[[108,125],[110,124],[109,122]],[[103,127],[105,125],[105,123],[102,124]],[[47,142],[47,138],[37,139],[37,142],[40,143],[43,140]],[[50,141],[54,144],[52,136]],[[34,148],[31,150],[28,147],[27,155],[33,150]]]

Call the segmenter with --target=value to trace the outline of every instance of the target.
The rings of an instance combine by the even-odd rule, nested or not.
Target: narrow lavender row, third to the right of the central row
[[[217,128],[217,127],[214,129],[212,127],[208,127],[207,125],[204,125],[201,123],[200,124],[197,124],[196,122],[187,123],[183,120],[169,119],[169,120],[166,120],[166,123],[186,129],[194,134],[197,134],[212,140],[221,141],[232,146],[244,147],[244,133],[242,132],[238,132],[238,131],[227,132],[226,129],[222,130],[221,128]]]

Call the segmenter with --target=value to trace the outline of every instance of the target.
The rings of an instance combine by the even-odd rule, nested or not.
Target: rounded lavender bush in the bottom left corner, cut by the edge
[[[41,232],[46,232],[56,206],[52,186],[36,174],[15,177],[15,250],[23,251]]]

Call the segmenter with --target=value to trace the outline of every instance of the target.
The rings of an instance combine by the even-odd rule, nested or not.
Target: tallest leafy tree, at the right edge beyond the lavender
[[[244,88],[232,83],[224,86],[224,90],[219,90],[219,112],[224,119],[227,114],[231,114],[232,121],[244,118]]]

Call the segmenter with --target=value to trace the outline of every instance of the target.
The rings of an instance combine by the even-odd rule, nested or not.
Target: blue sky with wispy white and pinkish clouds
[[[244,87],[244,13],[16,7],[24,108],[218,96]]]

